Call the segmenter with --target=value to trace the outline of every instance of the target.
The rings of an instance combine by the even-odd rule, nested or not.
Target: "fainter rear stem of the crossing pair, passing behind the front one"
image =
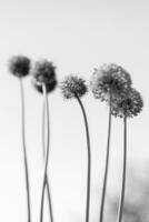
[[[44,134],[44,125],[46,125],[46,104],[44,104],[44,100],[43,100],[43,109],[42,109],[42,154],[43,154],[43,160],[44,160],[44,155],[46,155],[46,145],[44,145],[44,140],[46,140],[46,134]],[[50,213],[50,221],[53,222],[53,213],[52,213],[52,203],[51,203],[51,194],[50,194],[50,185],[49,185],[49,178],[47,174],[46,178],[46,186],[47,186],[47,195],[48,195],[48,203],[49,203],[49,213]]]

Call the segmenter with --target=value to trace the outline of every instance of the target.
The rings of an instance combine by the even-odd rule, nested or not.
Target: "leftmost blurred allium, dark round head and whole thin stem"
[[[31,203],[30,203],[30,185],[29,185],[29,170],[28,158],[26,148],[26,121],[24,121],[24,92],[22,78],[30,72],[30,59],[24,56],[12,57],[9,61],[9,71],[20,81],[21,93],[21,133],[22,133],[22,148],[23,148],[23,161],[24,161],[24,174],[26,174],[26,190],[27,190],[27,206],[28,206],[28,222],[31,222]]]

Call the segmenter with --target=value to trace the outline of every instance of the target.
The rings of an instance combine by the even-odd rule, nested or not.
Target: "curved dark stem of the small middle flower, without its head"
[[[80,98],[76,94],[76,99],[78,100],[81,111],[85,119],[85,127],[86,127],[86,135],[87,135],[87,150],[88,150],[88,170],[87,170],[87,204],[86,204],[86,222],[89,222],[89,211],[90,211],[90,183],[91,183],[91,150],[90,150],[90,135],[89,135],[89,127],[87,114],[83,108],[83,104]]]

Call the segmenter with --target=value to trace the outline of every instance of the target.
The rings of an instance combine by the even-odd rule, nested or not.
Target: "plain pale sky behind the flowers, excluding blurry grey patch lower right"
[[[20,133],[19,81],[8,72],[11,56],[57,67],[58,80],[77,73],[90,80],[93,68],[116,62],[126,68],[145,100],[143,112],[128,124],[128,164],[146,174],[149,161],[149,1],[148,0],[0,0],[0,218],[27,222]],[[39,221],[42,179],[42,98],[24,80],[27,143],[32,222]],[[91,221],[98,221],[107,140],[108,108],[91,93],[82,99],[92,149]],[[49,176],[56,222],[85,220],[86,134],[76,101],[49,94],[51,152]],[[109,193],[120,189],[122,121],[113,119]],[[128,168],[129,168],[128,167]],[[139,173],[138,173],[139,174]],[[117,189],[118,188],[118,189]],[[44,221],[48,221],[47,219]]]

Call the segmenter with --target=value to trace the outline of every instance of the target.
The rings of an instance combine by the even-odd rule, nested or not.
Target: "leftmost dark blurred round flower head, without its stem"
[[[30,59],[24,56],[12,57],[9,61],[9,71],[16,77],[26,77],[30,72]]]

